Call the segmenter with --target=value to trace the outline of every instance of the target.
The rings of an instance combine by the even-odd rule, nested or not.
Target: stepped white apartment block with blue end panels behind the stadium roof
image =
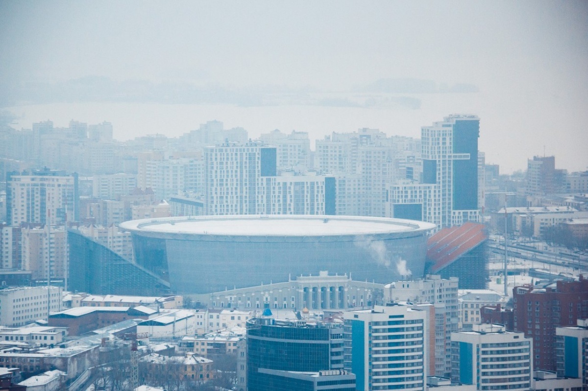
[[[276,147],[205,149],[205,214],[335,214],[335,178],[278,176]]]

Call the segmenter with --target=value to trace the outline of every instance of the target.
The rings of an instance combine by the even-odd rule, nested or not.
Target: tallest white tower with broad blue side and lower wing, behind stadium
[[[477,139],[480,119],[452,114],[442,122],[421,129],[422,180],[389,189],[388,217],[422,219],[438,228],[479,220],[479,158]],[[428,185],[428,186],[427,186]],[[423,198],[407,197],[419,190]]]

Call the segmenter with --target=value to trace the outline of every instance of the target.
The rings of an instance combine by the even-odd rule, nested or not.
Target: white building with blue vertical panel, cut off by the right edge
[[[588,388],[588,319],[556,328],[556,360],[558,376],[581,378]]]

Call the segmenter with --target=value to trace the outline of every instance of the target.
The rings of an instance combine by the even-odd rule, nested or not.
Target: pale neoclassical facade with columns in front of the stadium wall
[[[328,271],[320,271],[318,275],[289,277],[288,282],[190,296],[208,308],[300,311],[303,308],[333,310],[382,304],[383,284],[351,278],[348,274],[329,275]]]

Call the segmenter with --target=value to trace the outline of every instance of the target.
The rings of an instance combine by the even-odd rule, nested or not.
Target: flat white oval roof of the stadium
[[[383,217],[327,215],[234,215],[125,221],[124,230],[196,235],[324,236],[429,231],[435,224]]]

